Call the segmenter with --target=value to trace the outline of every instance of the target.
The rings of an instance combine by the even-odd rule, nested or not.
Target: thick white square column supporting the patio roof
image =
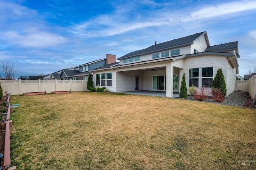
[[[172,62],[166,64],[166,97],[173,97],[173,65]]]

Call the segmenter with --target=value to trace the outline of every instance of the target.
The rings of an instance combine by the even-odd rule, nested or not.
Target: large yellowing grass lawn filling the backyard
[[[10,118],[18,170],[256,168],[255,109],[118,93],[11,97],[21,104]]]

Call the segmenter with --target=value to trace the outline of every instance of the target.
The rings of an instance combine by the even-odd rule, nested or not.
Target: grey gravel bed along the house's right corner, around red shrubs
[[[188,96],[187,100],[195,100],[193,96]],[[200,102],[210,102],[222,105],[238,106],[238,107],[247,107],[256,109],[256,106],[252,105],[252,98],[248,92],[238,92],[234,91],[221,103],[213,102],[211,97],[207,97],[204,101]]]

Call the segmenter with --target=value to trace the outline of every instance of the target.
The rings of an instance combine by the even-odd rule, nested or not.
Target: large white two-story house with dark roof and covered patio
[[[94,86],[106,86],[110,92],[136,90],[164,91],[166,97],[179,92],[182,74],[187,87],[211,88],[222,68],[227,95],[235,90],[238,74],[238,42],[210,46],[207,32],[173,39],[119,57],[112,63],[92,70]]]

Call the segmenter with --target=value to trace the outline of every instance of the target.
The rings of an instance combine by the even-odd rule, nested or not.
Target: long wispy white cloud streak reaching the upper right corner
[[[150,0],[142,1],[145,4],[154,4]],[[123,6],[122,6],[123,7]],[[227,2],[216,5],[209,5],[200,8],[199,10],[186,12],[190,9],[180,10],[166,10],[160,8],[152,11],[152,14],[139,15],[137,18],[130,18],[129,14],[132,13],[133,6],[126,5],[126,8],[120,9],[116,6],[116,11],[112,14],[105,14],[98,16],[92,20],[76,24],[71,31],[75,35],[83,37],[106,37],[112,35],[119,35],[136,29],[142,29],[145,27],[155,27],[163,25],[177,25],[180,23],[186,23],[193,20],[209,19],[217,16],[222,18],[229,18],[238,12],[244,12],[249,10],[256,10],[255,1],[235,1]],[[194,8],[193,8],[194,9]],[[122,15],[122,14],[129,15]],[[143,13],[143,12],[142,12]],[[125,17],[124,17],[125,16]],[[218,18],[221,19],[221,18]]]

